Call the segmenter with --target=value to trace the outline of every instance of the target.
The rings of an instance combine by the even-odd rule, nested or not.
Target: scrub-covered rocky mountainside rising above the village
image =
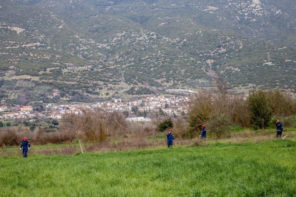
[[[199,89],[215,74],[295,92],[295,18],[293,0],[2,0],[0,104]]]

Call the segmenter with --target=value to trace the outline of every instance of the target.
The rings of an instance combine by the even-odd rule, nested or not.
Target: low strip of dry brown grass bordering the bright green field
[[[146,126],[142,127],[146,128]],[[289,131],[286,132],[289,134],[287,139],[295,139],[296,132]],[[285,133],[285,134],[286,134]],[[150,135],[151,134],[151,135]],[[121,152],[121,151],[128,151],[128,150],[138,150],[138,149],[159,149],[166,147],[166,140],[165,135],[161,139],[155,136],[156,133],[147,132],[146,134],[140,133],[129,133],[122,138],[113,141],[103,141],[101,143],[96,144],[88,144],[83,143],[83,151],[84,152]],[[272,130],[246,130],[242,133],[232,133],[229,136],[223,136],[221,139],[215,138],[208,138],[205,141],[202,141],[200,138],[194,137],[193,139],[183,139],[176,137],[174,142],[174,146],[209,146],[216,142],[218,143],[241,143],[241,142],[263,142],[263,141],[270,141],[276,139],[275,136],[276,132]],[[119,135],[120,136],[120,135]],[[138,136],[138,137],[136,137]],[[145,137],[146,136],[146,137]],[[68,146],[54,146],[54,147],[36,147],[33,144],[33,148],[30,149],[29,155],[52,155],[52,154],[64,154],[64,155],[74,155],[79,153],[80,147],[77,143],[71,143],[70,147]],[[0,154],[1,156],[21,156],[21,152],[19,148],[13,148],[6,150],[6,146],[4,147],[4,153]]]

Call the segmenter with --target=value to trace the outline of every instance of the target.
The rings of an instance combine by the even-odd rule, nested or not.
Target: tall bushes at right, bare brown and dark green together
[[[279,90],[255,90],[250,92],[245,100],[244,95],[228,93],[226,86],[219,80],[217,84],[216,89],[202,91],[191,97],[188,103],[189,112],[184,114],[189,123],[189,133],[196,133],[197,128],[200,128],[202,124],[214,124],[213,117],[222,118],[219,114],[224,114],[224,118],[227,117],[227,124],[241,127],[252,125],[255,129],[261,129],[262,119],[264,126],[268,127],[269,124],[274,125],[274,120],[270,121],[271,116],[279,117],[280,115],[282,122],[286,122],[286,126],[293,126],[293,117],[289,115],[296,114],[296,100],[289,93]],[[212,128],[208,128],[209,132]],[[220,132],[217,129],[213,131],[214,133]],[[220,134],[215,135],[221,137]]]

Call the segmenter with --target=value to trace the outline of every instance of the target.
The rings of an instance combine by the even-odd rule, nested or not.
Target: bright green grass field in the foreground
[[[0,196],[295,196],[296,142],[2,157]]]

